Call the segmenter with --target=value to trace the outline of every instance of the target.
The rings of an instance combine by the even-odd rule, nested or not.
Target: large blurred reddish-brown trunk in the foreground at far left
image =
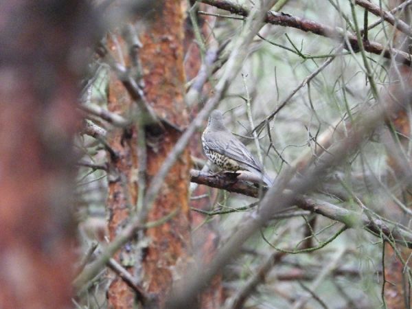
[[[73,56],[83,5],[0,2],[2,309],[72,306],[71,141],[83,65]]]

